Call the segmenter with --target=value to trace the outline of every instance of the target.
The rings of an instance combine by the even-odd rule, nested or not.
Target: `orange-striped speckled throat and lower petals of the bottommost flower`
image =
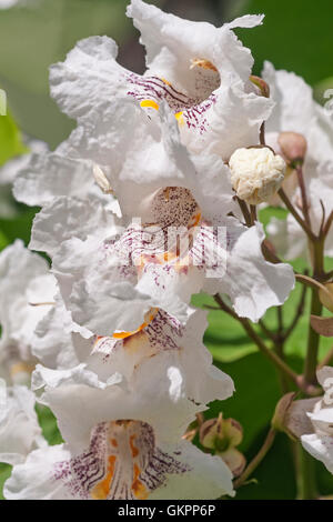
[[[79,454],[59,444],[31,452],[3,489],[7,500],[162,500],[233,495],[219,456],[185,440],[161,441],[140,420],[100,422]]]

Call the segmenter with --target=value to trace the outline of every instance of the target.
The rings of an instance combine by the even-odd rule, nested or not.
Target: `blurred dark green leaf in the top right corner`
[[[260,74],[264,60],[276,69],[295,71],[310,84],[332,76],[332,1],[248,0],[241,14],[264,13],[263,26],[238,30],[255,59]]]

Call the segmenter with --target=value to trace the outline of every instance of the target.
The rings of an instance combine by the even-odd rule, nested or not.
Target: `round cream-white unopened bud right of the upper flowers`
[[[285,162],[268,147],[238,149],[229,161],[231,183],[249,204],[266,201],[281,187]]]

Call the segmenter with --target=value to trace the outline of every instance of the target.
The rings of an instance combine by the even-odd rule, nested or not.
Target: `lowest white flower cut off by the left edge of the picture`
[[[27,387],[6,387],[0,379],[0,462],[20,464],[38,448],[44,448],[34,411],[34,394]]]

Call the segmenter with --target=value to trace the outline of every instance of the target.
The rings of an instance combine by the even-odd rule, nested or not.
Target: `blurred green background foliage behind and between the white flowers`
[[[0,88],[8,94],[10,114],[0,117],[0,165],[8,159],[24,152],[21,132],[48,142],[53,149],[65,139],[73,122],[60,113],[49,97],[48,67],[62,60],[78,39],[91,34],[108,34],[120,46],[119,61],[127,68],[141,72],[144,68],[143,49],[138,32],[124,16],[123,0],[31,0],[11,9],[1,9],[0,0]],[[333,2],[321,0],[159,0],[157,6],[192,20],[206,20],[222,24],[244,13],[265,13],[264,24],[252,30],[239,30],[244,44],[255,58],[254,72],[260,73],[264,60],[276,68],[293,70],[314,87],[317,100],[323,89],[333,88]],[[1,180],[1,171],[0,171]],[[0,184],[2,195],[8,188]],[[0,198],[0,205],[2,204]],[[17,205],[17,214],[0,219],[0,249],[16,238],[29,242],[30,227],[38,209]],[[1,212],[0,212],[1,213]],[[263,213],[268,221],[271,210]],[[281,215],[280,212],[280,218]],[[305,261],[297,261],[297,268]],[[333,263],[331,261],[331,268]],[[286,323],[293,314],[300,290],[291,295],[284,315]],[[212,304],[209,298],[198,297],[194,304]],[[307,303],[309,305],[309,303]],[[244,428],[241,449],[250,459],[260,448],[275,402],[280,394],[275,370],[266,362],[246,338],[241,327],[219,311],[210,312],[210,328],[205,335],[215,363],[235,381],[234,398],[214,403],[208,416],[221,409],[225,416],[233,416]],[[276,313],[268,312],[268,325],[276,328]],[[300,370],[306,335],[306,319],[287,343],[291,365]],[[330,342],[322,342],[321,354]],[[53,416],[39,409],[44,434],[50,443],[60,441]],[[0,464],[1,466],[1,464]],[[9,468],[0,468],[1,482]],[[333,493],[333,480],[317,464],[322,494]],[[295,481],[289,442],[278,438],[268,459],[254,475],[256,484],[243,486],[241,499],[293,499]]]

